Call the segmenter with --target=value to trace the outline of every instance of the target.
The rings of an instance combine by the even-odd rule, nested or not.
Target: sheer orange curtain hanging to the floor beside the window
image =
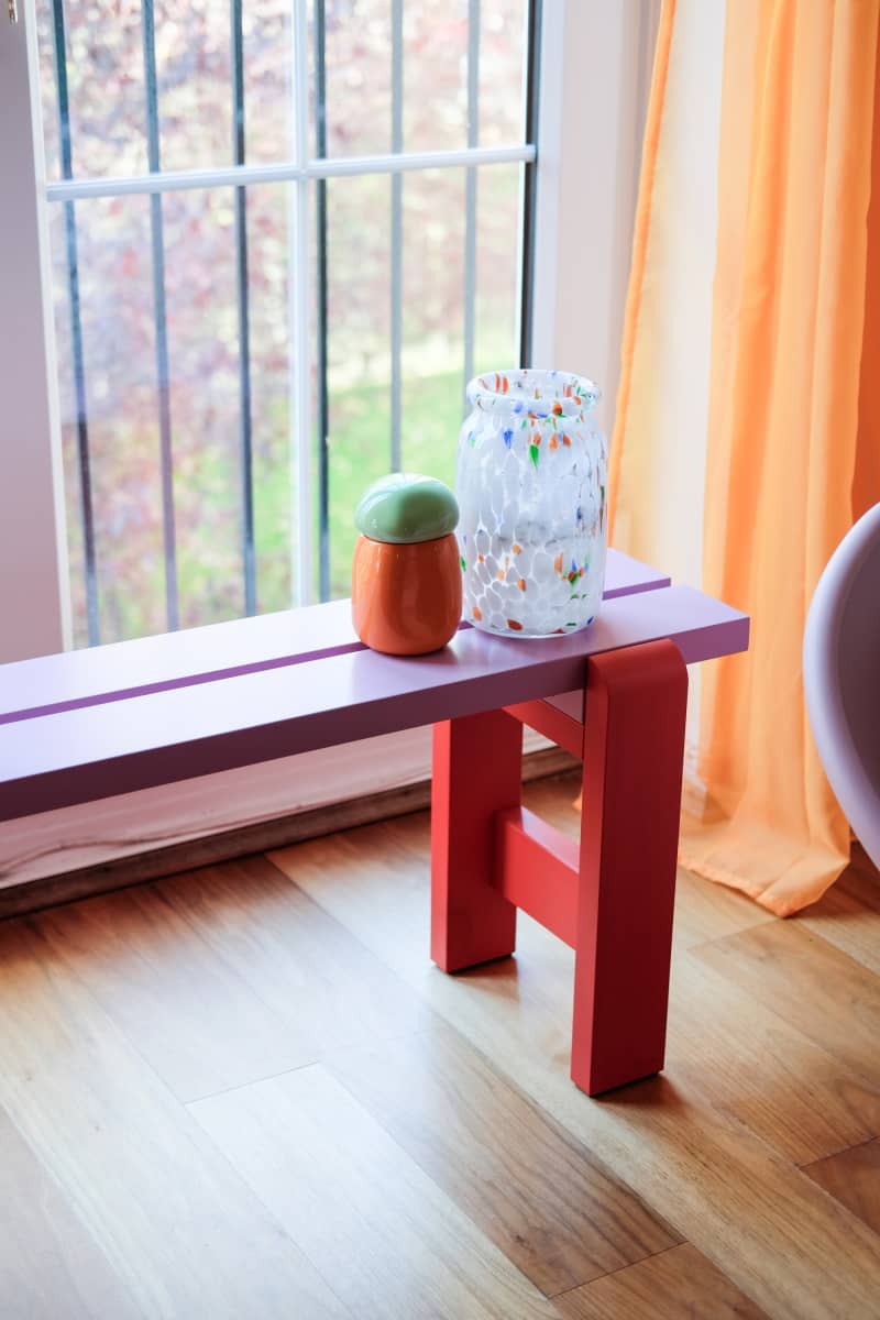
[[[661,100],[689,3],[664,15]],[[780,916],[819,898],[848,858],[848,826],[810,737],[801,644],[825,564],[880,500],[879,9],[728,0],[723,40],[703,585],[752,616],[752,639],[747,657],[703,667],[703,792],[683,817],[681,859]],[[637,461],[628,362],[643,329],[644,232],[657,223],[657,140],[649,131],[612,502]]]

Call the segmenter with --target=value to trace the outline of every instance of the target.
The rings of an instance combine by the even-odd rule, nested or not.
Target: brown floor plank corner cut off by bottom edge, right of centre
[[[763,1320],[756,1307],[731,1280],[685,1242],[682,1246],[631,1265],[557,1304],[567,1320]]]

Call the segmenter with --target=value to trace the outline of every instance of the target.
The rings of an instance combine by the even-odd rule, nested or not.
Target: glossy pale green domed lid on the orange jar
[[[433,477],[392,473],[367,487],[355,510],[358,531],[371,541],[412,545],[454,532],[458,503]]]

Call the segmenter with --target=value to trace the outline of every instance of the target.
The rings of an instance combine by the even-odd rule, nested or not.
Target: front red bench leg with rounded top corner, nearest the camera
[[[590,660],[571,1041],[590,1096],[664,1064],[686,704],[672,642]]]

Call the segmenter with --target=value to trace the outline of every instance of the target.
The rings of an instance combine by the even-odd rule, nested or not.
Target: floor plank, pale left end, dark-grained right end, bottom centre
[[[442,1024],[327,1067],[548,1295],[678,1241]]]

